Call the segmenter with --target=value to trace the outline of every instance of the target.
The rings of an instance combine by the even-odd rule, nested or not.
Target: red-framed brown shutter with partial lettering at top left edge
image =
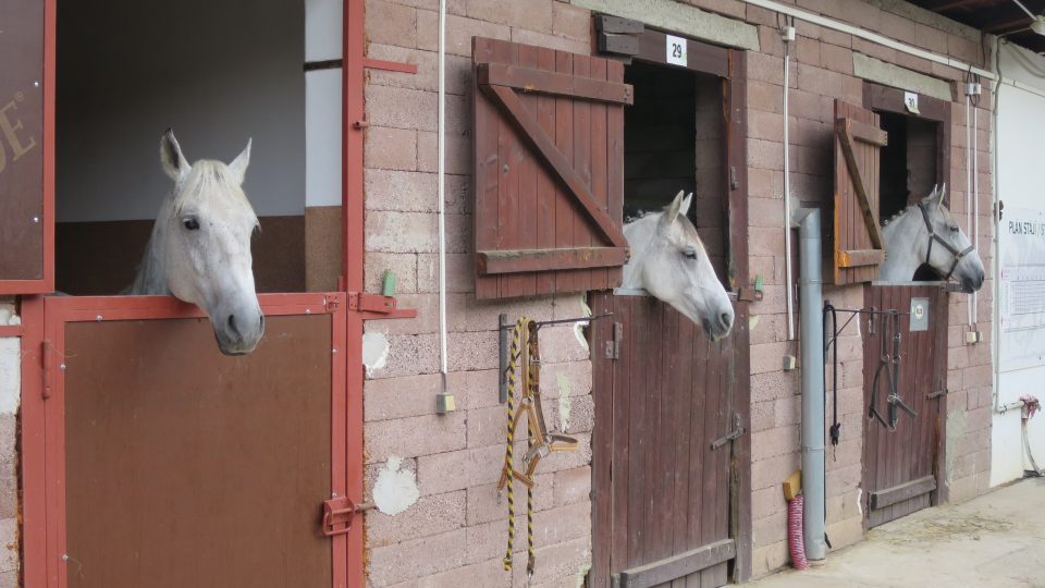
[[[0,294],[50,292],[54,1],[4,0],[0,23]]]

